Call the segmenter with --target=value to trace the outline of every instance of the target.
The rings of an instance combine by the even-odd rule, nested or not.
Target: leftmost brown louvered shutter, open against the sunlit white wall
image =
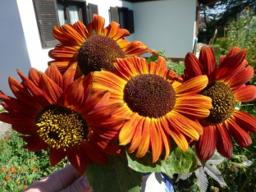
[[[42,47],[55,46],[57,39],[53,37],[53,26],[58,25],[56,3],[53,0],[34,0],[34,7],[39,25]]]

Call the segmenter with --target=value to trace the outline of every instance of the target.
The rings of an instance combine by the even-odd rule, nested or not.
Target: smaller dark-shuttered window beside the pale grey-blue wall
[[[130,31],[130,34],[135,32],[133,11],[126,7],[110,7],[110,21],[116,21],[120,27]]]

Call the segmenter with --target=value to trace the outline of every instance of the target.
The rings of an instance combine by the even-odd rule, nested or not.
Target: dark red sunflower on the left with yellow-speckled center
[[[28,78],[17,71],[22,83],[9,77],[16,98],[0,92],[7,110],[0,121],[21,134],[25,149],[48,148],[52,166],[67,157],[83,174],[87,163],[107,163],[105,153],[121,153],[111,139],[126,118],[110,115],[119,104],[107,104],[109,93],[91,95],[92,73],[74,81],[75,68],[73,64],[63,76],[55,65],[45,73],[31,68]]]

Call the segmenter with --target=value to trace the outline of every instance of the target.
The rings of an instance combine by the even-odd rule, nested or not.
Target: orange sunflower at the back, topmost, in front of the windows
[[[88,75],[91,71],[101,69],[114,70],[113,59],[128,56],[139,56],[144,53],[154,53],[140,41],[129,42],[124,37],[129,36],[128,30],[120,29],[117,22],[111,22],[104,28],[103,17],[94,15],[93,22],[85,25],[77,21],[74,25],[54,26],[53,36],[61,43],[49,52],[55,64],[63,73],[72,63],[78,63],[75,78]]]

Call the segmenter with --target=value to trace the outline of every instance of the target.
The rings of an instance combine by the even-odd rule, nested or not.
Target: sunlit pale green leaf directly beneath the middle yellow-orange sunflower
[[[180,148],[174,149],[166,161],[158,159],[152,163],[152,153],[146,153],[143,158],[136,158],[135,153],[126,153],[129,167],[139,172],[163,172],[172,177],[173,174],[186,173],[196,170],[198,159],[192,149],[182,152]]]

